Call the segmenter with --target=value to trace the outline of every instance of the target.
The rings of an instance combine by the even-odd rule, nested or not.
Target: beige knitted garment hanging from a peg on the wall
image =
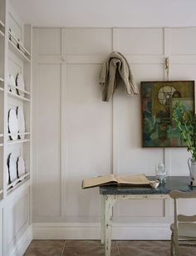
[[[105,60],[100,72],[100,84],[103,85],[102,100],[108,102],[115,93],[118,80],[125,84],[128,95],[138,94],[139,90],[134,82],[130,66],[121,53],[113,52]]]

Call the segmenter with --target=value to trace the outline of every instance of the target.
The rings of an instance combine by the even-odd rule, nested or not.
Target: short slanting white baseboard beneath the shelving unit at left
[[[17,242],[14,244],[14,247],[10,248],[9,252],[7,252],[7,255],[22,256],[27,250],[27,247],[31,242],[32,242],[32,225],[30,225],[27,228],[26,232],[22,234],[22,237],[17,240]]]

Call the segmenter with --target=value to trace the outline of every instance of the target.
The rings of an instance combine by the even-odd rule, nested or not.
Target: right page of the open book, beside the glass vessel
[[[145,185],[149,184],[149,179],[146,178],[145,174],[135,175],[116,175],[115,178],[119,184],[135,184]]]

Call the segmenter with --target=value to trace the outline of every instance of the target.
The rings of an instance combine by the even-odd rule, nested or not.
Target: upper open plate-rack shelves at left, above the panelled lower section
[[[5,8],[7,5],[7,8]],[[0,8],[3,7],[5,12],[0,12],[0,56],[4,61],[0,65],[0,163],[3,162],[0,169],[0,191],[2,191],[3,198],[6,198],[7,193],[17,193],[17,183],[25,183],[27,178],[31,180],[32,172],[32,95],[31,95],[31,52],[32,52],[32,27],[25,25],[18,18],[16,13],[12,12],[11,6],[7,0],[0,0]],[[2,15],[2,17],[1,17]],[[16,85],[9,84],[9,74],[14,78],[17,73],[22,74],[24,78],[25,88],[18,88]],[[12,91],[10,90],[12,89]],[[23,135],[22,138],[12,140],[12,136],[7,128],[7,117],[10,108],[20,106],[23,109],[25,118],[25,133],[17,133]],[[1,113],[2,111],[2,113]],[[2,117],[2,119],[1,119]],[[2,149],[3,148],[3,149]],[[7,158],[12,153],[14,156],[22,156],[27,164],[28,172],[22,177],[18,178],[14,183],[7,186]],[[3,175],[2,175],[3,174]],[[14,188],[14,189],[13,189]],[[1,199],[1,197],[0,197]]]

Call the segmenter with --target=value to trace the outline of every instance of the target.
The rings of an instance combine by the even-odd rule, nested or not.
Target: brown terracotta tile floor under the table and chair
[[[180,242],[180,256],[196,255],[194,243]],[[169,256],[169,241],[112,241],[111,256]],[[25,256],[104,256],[99,240],[33,240]]]

